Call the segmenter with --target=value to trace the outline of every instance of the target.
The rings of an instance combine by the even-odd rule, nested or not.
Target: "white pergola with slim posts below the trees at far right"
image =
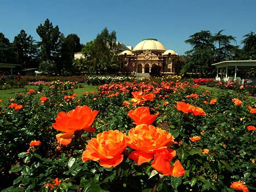
[[[256,68],[256,60],[247,60],[247,61],[223,61],[219,63],[214,63],[212,64],[214,67],[217,68],[217,78],[219,77],[219,68],[226,69],[226,78],[228,78],[228,67],[235,67],[235,79],[236,79],[236,71],[237,67],[251,67],[251,68]],[[255,73],[254,73],[255,75]]]

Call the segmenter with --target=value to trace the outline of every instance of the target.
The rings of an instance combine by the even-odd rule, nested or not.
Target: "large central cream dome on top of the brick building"
[[[162,45],[156,39],[143,39],[134,47],[132,51],[141,51],[141,50],[157,50],[160,52],[164,52],[166,49],[164,45]]]

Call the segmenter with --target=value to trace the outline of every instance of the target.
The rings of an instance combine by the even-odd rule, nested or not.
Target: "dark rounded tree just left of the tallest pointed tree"
[[[13,47],[16,55],[17,63],[21,64],[23,69],[30,67],[38,67],[36,63],[37,46],[34,44],[33,37],[26,34],[22,29],[20,33],[14,37]]]

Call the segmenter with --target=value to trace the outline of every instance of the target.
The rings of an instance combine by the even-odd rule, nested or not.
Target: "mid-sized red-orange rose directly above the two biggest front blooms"
[[[136,110],[130,110],[127,114],[127,116],[132,118],[136,125],[152,124],[158,115],[159,112],[157,112],[156,115],[150,115],[149,107],[138,107]]]

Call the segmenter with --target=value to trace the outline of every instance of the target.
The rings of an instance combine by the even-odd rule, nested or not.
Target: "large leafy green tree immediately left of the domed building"
[[[86,43],[82,52],[85,60],[96,74],[115,73],[119,70],[117,37],[115,31],[109,33],[107,28],[96,39]]]

